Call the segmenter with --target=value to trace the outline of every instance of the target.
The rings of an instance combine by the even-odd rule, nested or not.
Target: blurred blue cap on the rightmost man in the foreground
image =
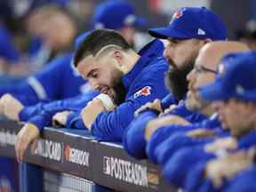
[[[204,100],[256,101],[256,52],[231,53],[220,61],[214,83],[199,89]]]

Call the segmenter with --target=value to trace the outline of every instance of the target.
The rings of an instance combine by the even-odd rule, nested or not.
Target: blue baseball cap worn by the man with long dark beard
[[[151,28],[148,33],[162,39],[227,39],[227,28],[223,22],[205,7],[182,7],[172,14],[172,20],[167,27]]]

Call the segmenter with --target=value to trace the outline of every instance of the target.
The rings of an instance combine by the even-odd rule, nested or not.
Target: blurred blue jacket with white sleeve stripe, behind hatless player
[[[24,105],[39,101],[63,100],[88,91],[88,84],[71,64],[72,54],[52,60],[43,71],[20,84],[0,86],[0,95],[9,92]]]

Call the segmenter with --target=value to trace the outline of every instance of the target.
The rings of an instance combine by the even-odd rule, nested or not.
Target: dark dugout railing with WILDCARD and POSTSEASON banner
[[[15,158],[21,127],[0,119],[0,156]],[[20,164],[20,192],[174,191],[155,164],[138,161],[120,144],[95,140],[82,130],[45,128],[35,153],[28,148],[24,162]]]

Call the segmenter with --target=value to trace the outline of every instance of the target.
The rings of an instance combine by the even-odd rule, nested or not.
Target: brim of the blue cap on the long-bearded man
[[[149,28],[148,33],[150,36],[154,36],[160,39],[166,39],[168,37],[179,38],[179,39],[191,38],[189,36],[186,36],[185,34],[181,34],[177,30],[174,30],[173,28]]]

